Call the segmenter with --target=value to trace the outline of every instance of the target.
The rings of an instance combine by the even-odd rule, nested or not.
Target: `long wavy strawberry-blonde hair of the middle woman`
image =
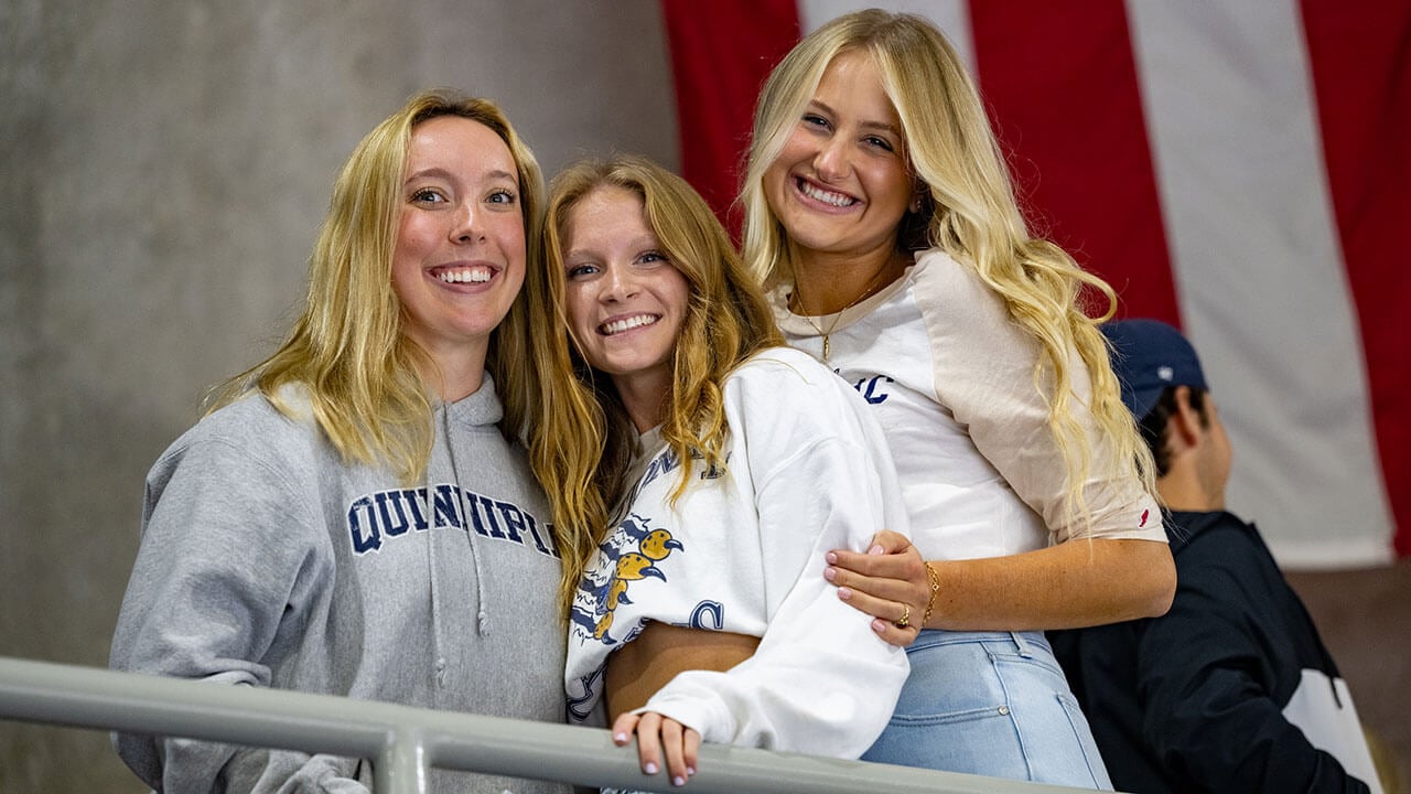
[[[610,528],[608,511],[626,485],[636,438],[612,380],[583,359],[564,307],[563,249],[570,242],[573,211],[602,188],[621,188],[642,199],[662,253],[690,285],[686,319],[672,352],[673,386],[662,425],[662,438],[683,463],[673,499],[686,489],[693,458],[707,468],[725,465],[725,377],[756,352],[783,343],[725,229],[684,179],[629,155],[580,161],[553,178],[543,266],[525,278],[535,331],[531,360],[538,367],[536,415],[525,429],[531,465],[553,506],[564,610]]]

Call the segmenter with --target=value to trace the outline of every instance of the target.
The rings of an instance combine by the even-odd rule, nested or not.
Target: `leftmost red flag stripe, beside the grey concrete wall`
[[[799,7],[794,0],[662,0],[662,13],[676,78],[682,177],[725,220],[739,189],[759,88],[799,42]]]

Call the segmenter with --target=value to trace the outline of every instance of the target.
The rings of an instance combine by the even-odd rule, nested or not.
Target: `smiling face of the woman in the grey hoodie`
[[[473,374],[478,387],[490,333],[523,284],[516,172],[509,147],[478,122],[437,116],[412,130],[392,288],[406,314],[404,332],[444,383]]]

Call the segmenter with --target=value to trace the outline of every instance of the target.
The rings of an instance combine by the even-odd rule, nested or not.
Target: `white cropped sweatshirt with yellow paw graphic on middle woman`
[[[810,356],[766,350],[724,386],[727,470],[642,437],[618,526],[579,586],[564,675],[586,719],[608,654],[648,620],[761,637],[727,672],[679,674],[639,711],[704,740],[856,757],[880,735],[907,677],[906,654],[823,578],[824,552],[862,551],[906,531],[896,473],[858,394]],[[641,472],[641,473],[638,473]]]

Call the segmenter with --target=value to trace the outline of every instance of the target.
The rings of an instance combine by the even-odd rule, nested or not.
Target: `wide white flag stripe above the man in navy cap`
[[[1391,559],[1297,7],[1127,3],[1182,325],[1281,564]]]

